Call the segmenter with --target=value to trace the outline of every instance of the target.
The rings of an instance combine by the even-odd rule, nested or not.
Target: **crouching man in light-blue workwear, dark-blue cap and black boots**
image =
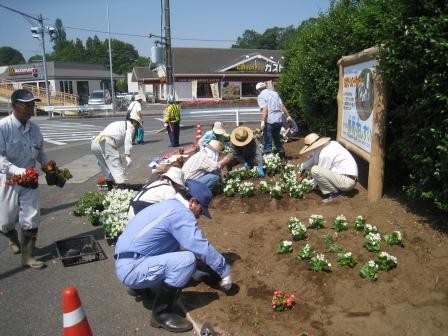
[[[232,287],[230,266],[197,224],[201,214],[211,218],[208,205],[212,193],[197,181],[188,183],[188,192],[186,197],[176,194],[140,211],[118,239],[114,255],[117,277],[127,287],[160,285],[151,325],[172,332],[192,329],[187,319],[174,312],[174,305],[196,271],[196,257],[221,277],[223,289]]]

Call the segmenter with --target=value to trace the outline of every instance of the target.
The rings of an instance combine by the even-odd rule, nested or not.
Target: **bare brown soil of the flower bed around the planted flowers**
[[[285,146],[296,164],[304,159],[298,155],[302,144]],[[319,192],[281,200],[259,194],[248,199],[219,195],[211,214],[213,219],[201,218],[200,226],[232,263],[240,291],[227,296],[200,283],[184,290],[182,302],[194,320],[210,322],[218,334],[448,335],[448,223],[425,206],[405,204],[387,190],[383,199],[371,203],[361,181],[351,195],[330,204],[322,202]],[[291,240],[288,219],[296,216],[307,224],[311,214],[323,215],[326,227],[309,229],[308,240],[295,241],[292,253],[277,254],[279,240]],[[331,221],[340,214],[350,225],[362,215],[378,227],[381,237],[400,230],[404,247],[382,241],[382,250],[398,258],[398,267],[380,272],[376,282],[361,278],[361,265],[375,253],[363,247],[363,234],[352,227],[337,234],[337,243],[358,263],[353,269],[338,267],[335,254],[324,253],[321,237],[336,237]],[[296,259],[307,242],[326,255],[331,273],[310,271],[307,262]],[[292,310],[273,311],[276,289],[295,295]]]

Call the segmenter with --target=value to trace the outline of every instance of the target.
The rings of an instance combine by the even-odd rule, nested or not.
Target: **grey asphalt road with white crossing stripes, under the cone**
[[[62,135],[74,132],[100,130],[122,116],[81,119],[34,118],[45,132],[58,127],[66,128]],[[157,115],[145,115],[145,143],[132,149],[133,164],[127,174],[131,183],[142,183],[150,175],[149,158],[169,150],[168,136],[158,133],[161,122]],[[185,120],[181,130],[181,145],[194,142],[196,120]],[[205,122],[204,128],[212,124]],[[87,126],[90,125],[90,126]],[[233,125],[225,123],[230,132]],[[113,247],[104,240],[101,227],[91,226],[83,217],[71,214],[74,204],[86,191],[96,190],[99,168],[90,152],[90,141],[73,140],[79,133],[71,134],[73,141],[54,134],[46,142],[50,159],[68,167],[75,177],[64,188],[49,187],[43,181],[39,186],[41,226],[37,241],[37,255],[42,256],[48,267],[31,270],[20,265],[20,255],[7,249],[7,240],[0,236],[0,325],[2,336],[53,336],[62,334],[62,291],[65,287],[78,289],[94,335],[171,335],[149,325],[151,301],[136,302],[127,295],[117,281],[114,271]],[[87,137],[91,138],[91,134]],[[63,141],[65,139],[65,141]],[[57,144],[55,141],[59,141]],[[4,209],[2,209],[4,211]],[[91,234],[100,243],[107,259],[64,267],[58,258],[55,242],[80,235]],[[194,335],[193,332],[185,335]]]

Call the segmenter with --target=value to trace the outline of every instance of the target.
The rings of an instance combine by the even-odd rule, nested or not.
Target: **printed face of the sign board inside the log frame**
[[[371,152],[376,60],[344,67],[342,137]]]

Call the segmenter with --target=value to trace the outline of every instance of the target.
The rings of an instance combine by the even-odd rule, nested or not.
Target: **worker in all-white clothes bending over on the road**
[[[104,131],[92,139],[91,150],[98,160],[101,174],[106,179],[109,190],[114,183],[120,185],[127,182],[118,148],[124,145],[126,166],[129,167],[132,163],[132,137],[135,130],[141,126],[141,119],[134,114],[126,120],[110,123]]]

